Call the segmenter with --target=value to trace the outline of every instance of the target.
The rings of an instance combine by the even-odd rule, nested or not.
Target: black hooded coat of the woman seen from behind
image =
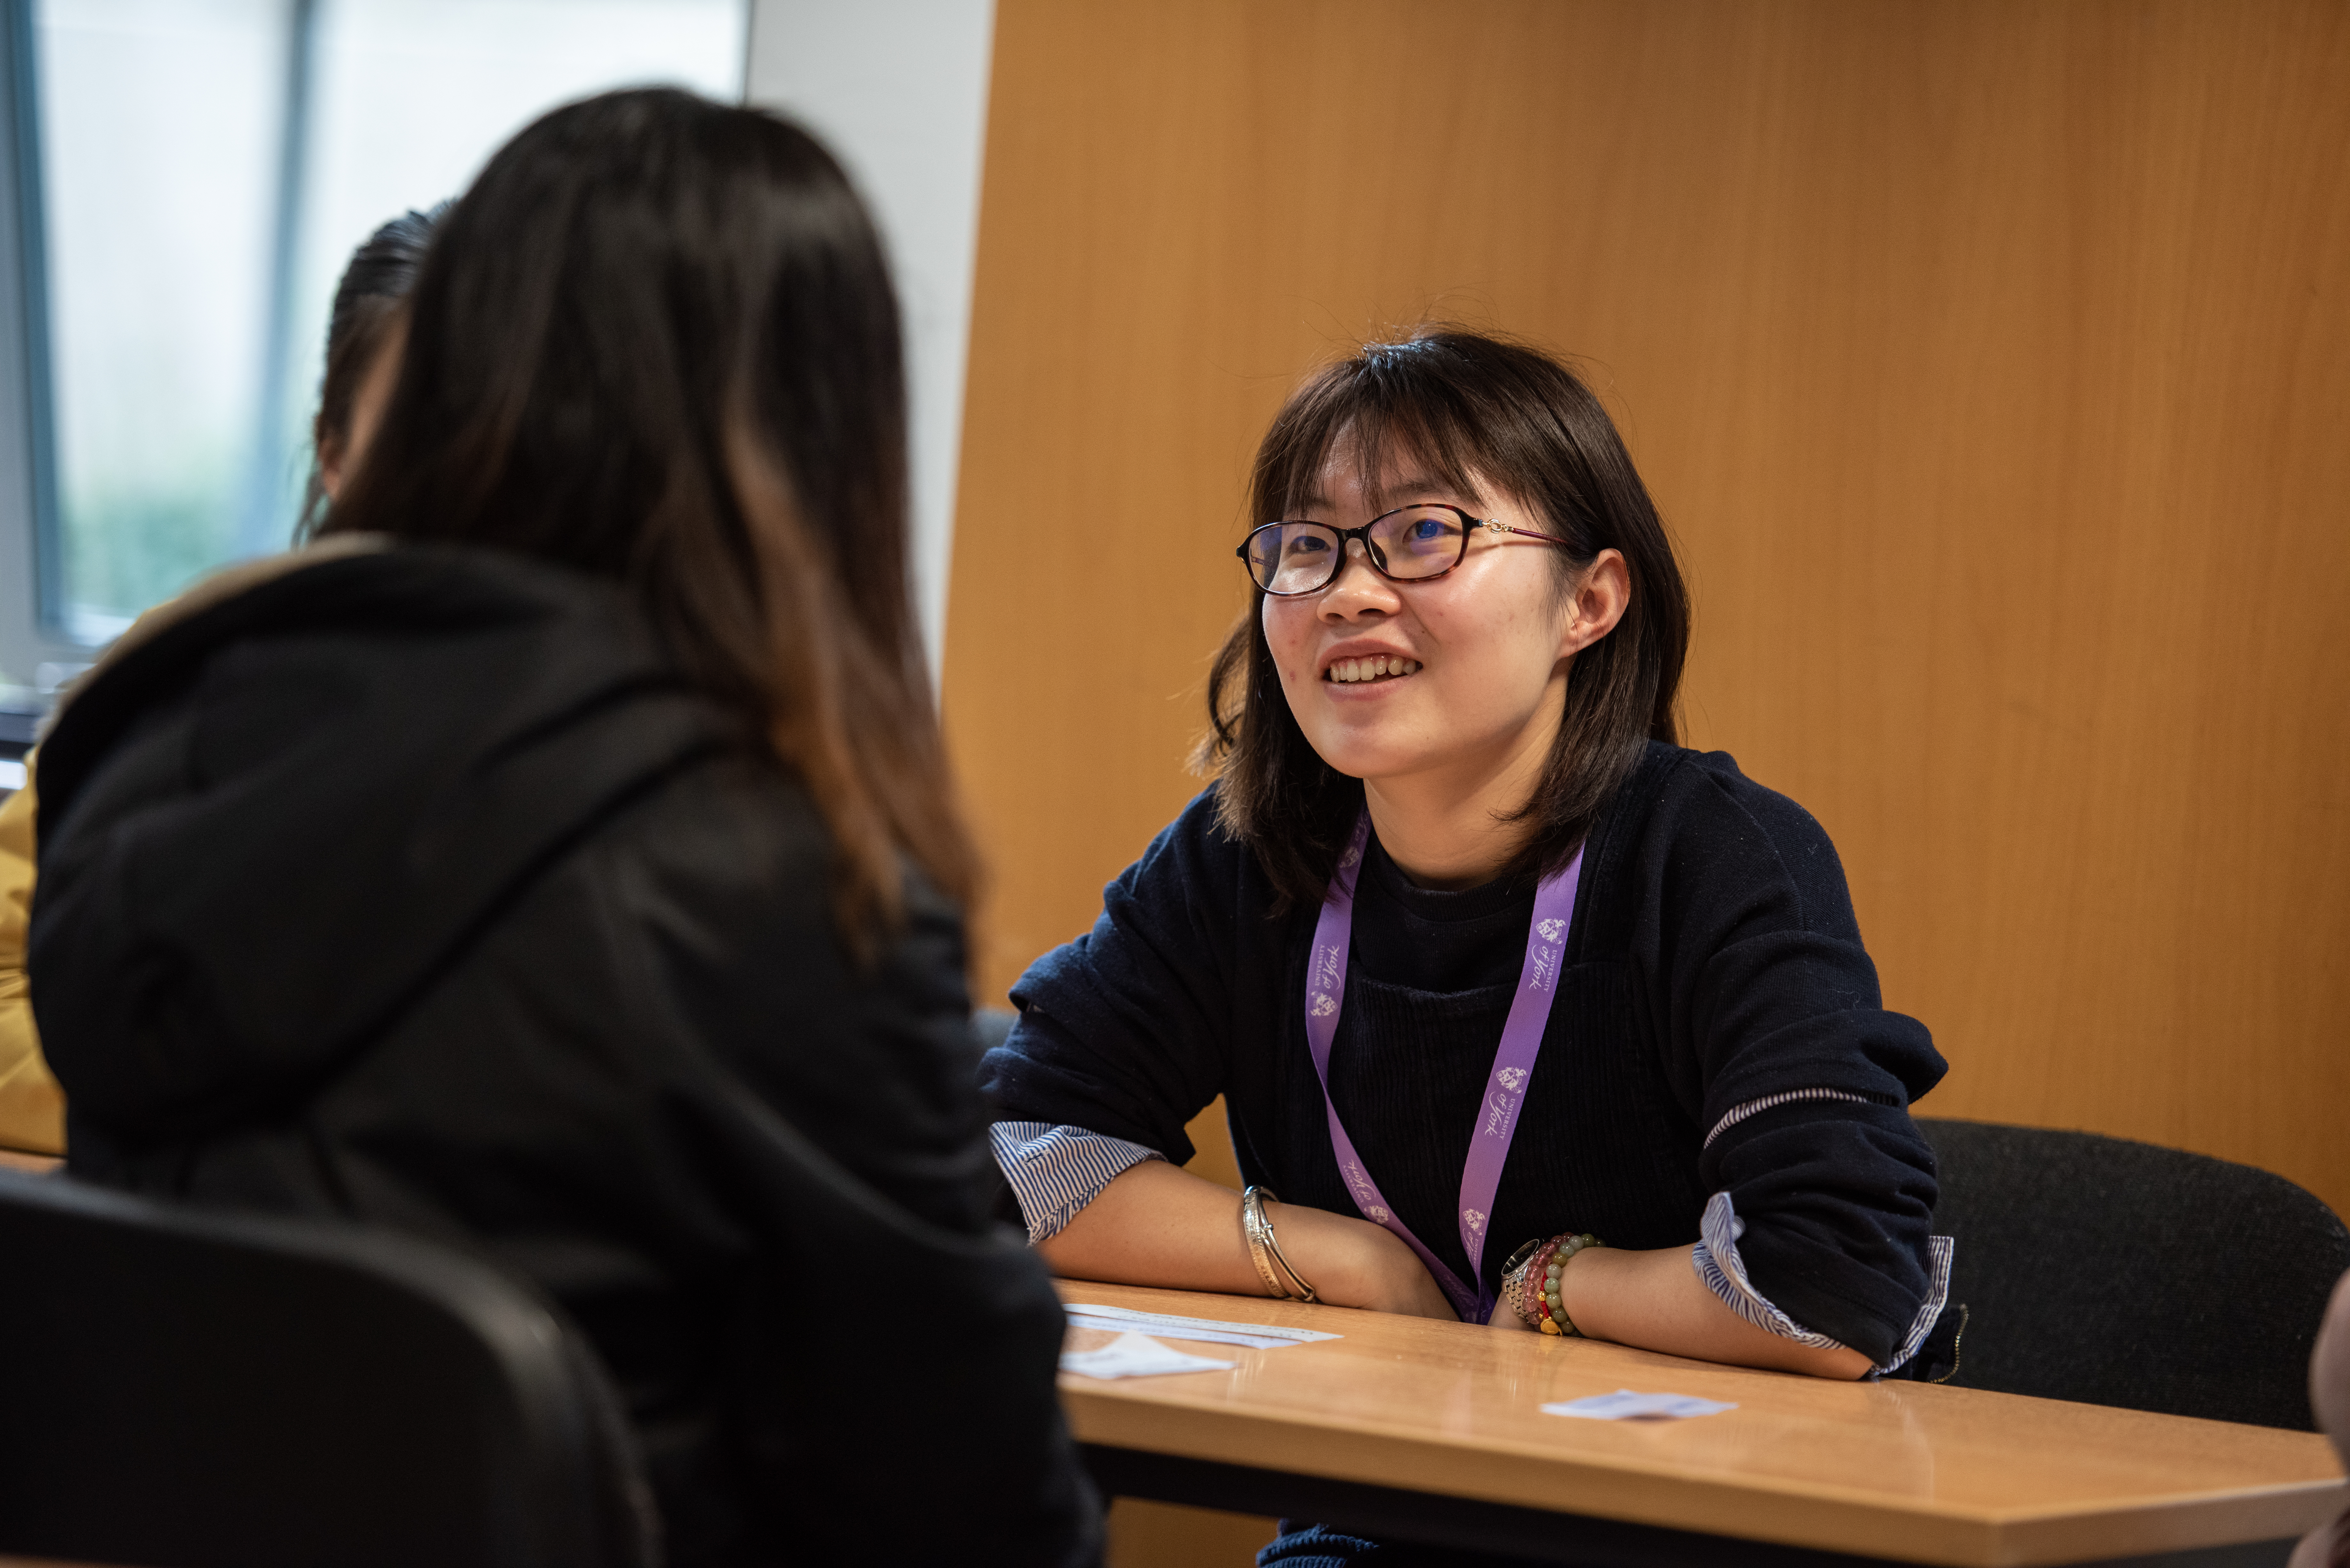
[[[912,1561],[891,1533],[938,1516],[964,1561],[1090,1561],[1060,1305],[987,1213],[961,919],[909,879],[860,969],[830,863],[613,590],[301,567],[129,649],[42,750],[68,1166],[538,1288],[613,1371],[677,1566]]]

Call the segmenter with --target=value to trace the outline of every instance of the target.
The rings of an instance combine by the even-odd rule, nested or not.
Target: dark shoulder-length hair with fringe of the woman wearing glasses
[[[1622,550],[1631,604],[1574,656],[1565,722],[1532,797],[1532,837],[1511,875],[1567,865],[1650,738],[1678,741],[1690,592],[1657,505],[1607,409],[1567,367],[1509,339],[1429,327],[1314,371],[1257,447],[1248,527],[1295,517],[1332,456],[1375,494],[1384,461],[1412,461],[1469,496],[1502,489],[1570,541],[1549,550],[1567,595],[1600,550]],[[1206,771],[1217,816],[1248,844],[1281,907],[1316,905],[1363,802],[1307,743],[1250,599],[1208,675]]]

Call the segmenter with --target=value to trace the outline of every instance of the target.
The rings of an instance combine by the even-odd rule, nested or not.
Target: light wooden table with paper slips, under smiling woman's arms
[[[1821,1382],[1464,1324],[1062,1281],[1102,1302],[1344,1335],[1173,1340],[1231,1371],[1060,1389],[1116,1495],[1577,1563],[2282,1563],[2334,1516],[2326,1439],[1913,1382]],[[1076,1331],[1069,1349],[1112,1335]],[[1739,1408],[1544,1415],[1640,1392]]]

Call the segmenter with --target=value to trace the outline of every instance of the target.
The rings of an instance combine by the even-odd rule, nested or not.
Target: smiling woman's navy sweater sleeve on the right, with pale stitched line
[[[1885,1011],[1842,865],[1800,806],[1704,759],[1652,839],[1647,1004],[1706,1128],[1699,1180],[1741,1220],[1741,1281],[1896,1366],[1936,1309],[1934,1152],[1908,1105],[1943,1074]]]

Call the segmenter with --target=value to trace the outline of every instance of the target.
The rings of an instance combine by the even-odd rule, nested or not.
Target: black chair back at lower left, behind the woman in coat
[[[0,1554],[649,1568],[578,1335],[489,1267],[0,1173]]]

